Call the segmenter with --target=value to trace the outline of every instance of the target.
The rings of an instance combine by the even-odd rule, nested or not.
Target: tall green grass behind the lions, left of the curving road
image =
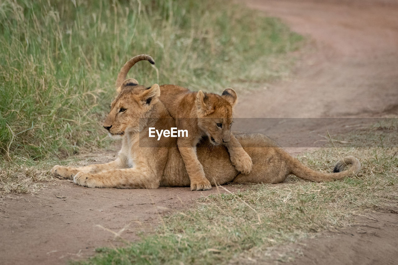
[[[76,5],[74,4],[76,2]],[[88,4],[90,3],[90,4]],[[249,89],[281,77],[302,37],[227,0],[0,4],[0,159],[39,161],[104,147],[115,79],[193,90]]]

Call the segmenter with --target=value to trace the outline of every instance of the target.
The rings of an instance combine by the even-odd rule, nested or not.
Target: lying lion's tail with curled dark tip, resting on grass
[[[292,157],[290,174],[298,176],[304,180],[310,180],[315,182],[322,182],[328,180],[339,180],[347,176],[356,175],[361,169],[361,163],[358,159],[353,156],[343,158],[343,160],[337,162],[334,167],[333,173],[323,173],[316,170],[312,170],[305,166],[300,161]],[[347,170],[344,170],[347,166],[351,166]]]

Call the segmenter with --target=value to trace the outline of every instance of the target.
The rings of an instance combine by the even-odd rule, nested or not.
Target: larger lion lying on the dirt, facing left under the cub
[[[73,180],[76,184],[98,188],[158,188],[190,185],[183,159],[172,137],[148,137],[149,128],[168,130],[176,126],[174,119],[159,100],[157,84],[147,88],[135,79],[127,79],[118,87],[119,95],[111,104],[104,127],[112,137],[122,138],[115,161],[80,168],[54,166],[52,174]],[[197,157],[211,185],[227,182],[278,183],[289,174],[316,182],[336,180],[359,171],[361,164],[352,156],[339,161],[334,172],[312,170],[279,148],[267,136],[236,134],[236,139],[253,161],[252,171],[241,174],[232,165],[226,147],[209,147],[209,139],[197,145]],[[161,146],[161,147],[159,147]],[[343,171],[351,165],[349,170]]]

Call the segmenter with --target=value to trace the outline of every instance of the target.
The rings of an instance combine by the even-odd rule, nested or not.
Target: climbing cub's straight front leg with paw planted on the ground
[[[210,190],[211,184],[207,180],[203,166],[197,158],[196,147],[179,146],[178,149],[184,161],[189,180],[191,181],[191,190]]]

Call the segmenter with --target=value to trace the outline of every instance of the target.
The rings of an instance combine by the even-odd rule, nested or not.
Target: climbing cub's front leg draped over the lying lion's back
[[[236,170],[242,174],[249,174],[252,171],[253,162],[248,153],[244,151],[242,145],[231,133],[231,140],[224,144],[228,149],[232,164]]]

